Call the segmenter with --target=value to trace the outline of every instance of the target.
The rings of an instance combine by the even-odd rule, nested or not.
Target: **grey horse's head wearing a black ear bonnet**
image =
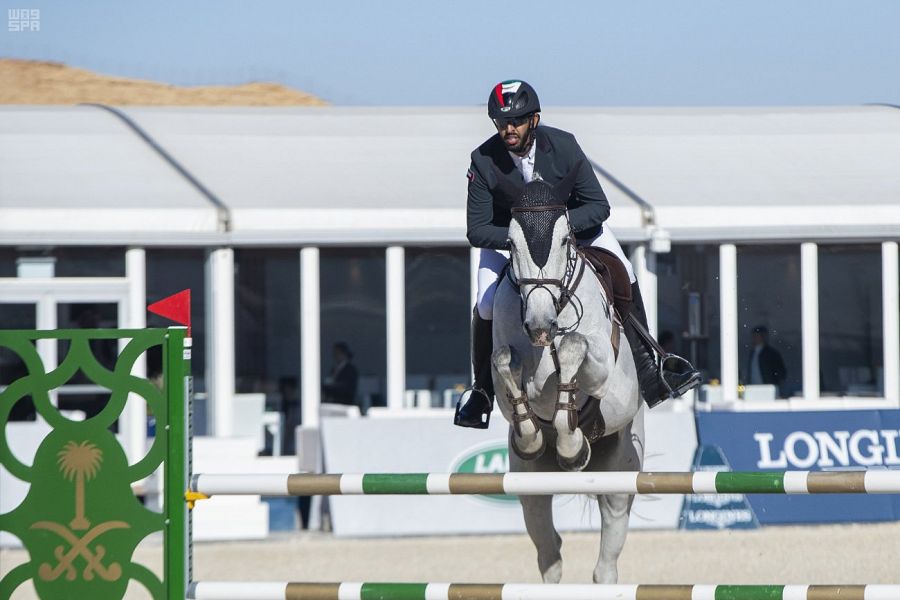
[[[510,263],[522,299],[522,325],[535,346],[548,346],[556,336],[561,295],[575,259],[566,212],[571,179],[556,187],[532,181],[512,207]]]

